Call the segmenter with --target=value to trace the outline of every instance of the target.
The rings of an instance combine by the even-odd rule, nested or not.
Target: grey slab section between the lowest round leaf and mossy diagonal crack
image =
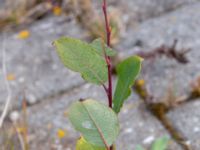
[[[133,100],[133,99],[130,99]],[[142,145],[150,149],[152,142],[163,136],[169,136],[163,126],[138,101],[124,105],[120,114],[121,133],[117,141],[118,149],[136,149]],[[181,150],[174,141],[168,145],[169,150]]]

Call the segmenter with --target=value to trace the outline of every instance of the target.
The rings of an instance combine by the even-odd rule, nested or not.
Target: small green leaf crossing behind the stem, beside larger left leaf
[[[104,44],[104,45],[102,45]],[[105,48],[106,51],[106,55],[107,56],[115,56],[117,53],[116,51],[112,50],[111,48],[109,48],[104,42],[102,42],[102,40],[100,38],[94,40],[91,43],[91,46],[97,50],[97,52],[101,55],[104,56],[104,51],[103,49]]]

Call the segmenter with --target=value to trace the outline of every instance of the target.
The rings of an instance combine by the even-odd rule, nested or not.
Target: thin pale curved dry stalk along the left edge
[[[3,122],[4,122],[4,119],[7,115],[8,108],[9,108],[10,102],[11,102],[11,97],[12,97],[11,88],[10,88],[10,85],[9,85],[7,77],[6,77],[7,76],[7,69],[6,69],[6,52],[5,52],[5,38],[4,38],[4,36],[3,36],[3,44],[2,44],[2,71],[3,71],[4,82],[5,82],[6,90],[7,90],[7,98],[6,98],[5,107],[4,107],[3,112],[0,116],[0,128],[2,128],[2,126],[3,126]]]

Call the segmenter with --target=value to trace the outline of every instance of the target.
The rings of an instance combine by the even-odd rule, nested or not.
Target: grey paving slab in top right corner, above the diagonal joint
[[[196,0],[132,0],[121,1],[125,5],[125,14],[130,14],[130,20],[145,21],[148,18],[160,16],[173,11],[180,6],[194,3]]]

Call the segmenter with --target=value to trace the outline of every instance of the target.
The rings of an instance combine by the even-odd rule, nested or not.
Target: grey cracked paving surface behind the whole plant
[[[110,4],[119,7],[124,14],[122,19],[125,19],[123,22],[126,30],[120,42],[115,45],[121,55],[127,57],[139,50],[148,51],[161,44],[171,45],[175,38],[179,40],[179,48],[192,49],[188,54],[190,62],[186,65],[166,57],[145,60],[140,76],[159,100],[163,100],[170,84],[178,96],[187,94],[190,82],[200,75],[200,2],[129,0],[124,3],[121,0],[116,3],[110,1]],[[95,7],[97,6],[98,3],[95,3]],[[16,78],[9,81],[13,91],[13,110],[21,108],[25,91],[30,104],[28,123],[32,150],[74,149],[75,139],[79,135],[69,124],[68,106],[72,101],[87,97],[106,102],[106,96],[102,88],[85,84],[78,74],[64,68],[51,43],[60,36],[86,39],[86,31],[70,16],[49,16],[27,29],[31,35],[25,40],[17,39],[17,31],[0,35],[0,41],[6,42],[8,73],[14,74]],[[135,45],[138,40],[142,43],[140,46]],[[1,53],[0,58],[2,59]],[[6,90],[0,70],[0,110],[5,97]],[[178,106],[167,114],[175,127],[188,139],[192,150],[200,149],[199,105],[200,101],[196,100]],[[154,139],[170,136],[134,93],[124,105],[119,118],[119,150],[132,150],[137,144],[149,148]],[[67,132],[63,140],[59,140],[56,135],[58,129]],[[169,150],[179,149],[182,150],[172,141]]]

